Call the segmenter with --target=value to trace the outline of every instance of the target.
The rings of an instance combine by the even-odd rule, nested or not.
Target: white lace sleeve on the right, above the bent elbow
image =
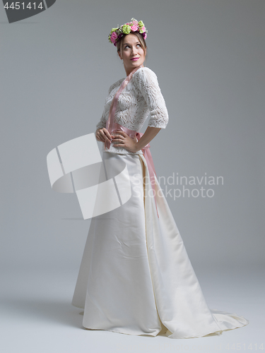
[[[157,76],[150,68],[143,67],[134,73],[133,79],[150,110],[148,126],[165,128],[168,123],[168,113]]]

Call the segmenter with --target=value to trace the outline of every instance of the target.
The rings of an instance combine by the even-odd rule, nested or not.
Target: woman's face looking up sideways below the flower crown
[[[126,71],[131,71],[137,66],[140,66],[146,59],[146,54],[136,35],[126,35],[124,37],[121,51],[118,52],[118,54],[119,57],[123,59]]]

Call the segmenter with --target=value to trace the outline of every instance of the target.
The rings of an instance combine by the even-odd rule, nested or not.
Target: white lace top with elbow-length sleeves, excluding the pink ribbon
[[[121,78],[110,86],[104,111],[96,129],[106,127],[110,104],[123,80],[124,78]],[[141,67],[133,74],[129,83],[120,93],[114,119],[126,128],[140,131],[149,114],[151,116],[148,126],[155,128],[165,128],[167,126],[167,107],[158,85],[158,78],[150,68]],[[104,150],[104,143],[102,143],[102,150]],[[122,147],[113,147],[113,143],[110,145],[110,150],[106,149],[106,151],[122,154],[142,154],[141,150],[131,152]]]

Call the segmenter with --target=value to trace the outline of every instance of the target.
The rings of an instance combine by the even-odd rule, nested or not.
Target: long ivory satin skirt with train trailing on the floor
[[[155,177],[158,218],[145,157],[103,152],[102,158],[108,178],[126,163],[132,196],[91,220],[72,301],[84,308],[83,326],[192,338],[247,325],[242,316],[208,308]]]

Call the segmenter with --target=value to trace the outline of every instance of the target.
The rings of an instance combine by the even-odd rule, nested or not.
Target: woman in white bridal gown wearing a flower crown
[[[125,165],[131,197],[122,202],[120,193],[119,208],[91,220],[72,304],[84,308],[85,328],[170,338],[220,335],[249,321],[208,308],[158,184],[148,143],[167,126],[168,114],[155,73],[143,66],[146,32],[132,18],[109,35],[126,78],[110,86],[95,136],[104,143],[102,174],[108,180]]]

